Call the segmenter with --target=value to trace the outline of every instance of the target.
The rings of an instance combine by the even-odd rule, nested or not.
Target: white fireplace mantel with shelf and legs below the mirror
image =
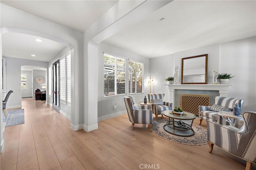
[[[229,87],[232,84],[165,84],[169,88],[170,102],[174,103],[175,90],[217,90],[220,96],[228,97]]]

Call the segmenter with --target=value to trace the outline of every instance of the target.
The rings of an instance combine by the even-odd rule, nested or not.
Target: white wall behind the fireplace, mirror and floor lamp
[[[169,100],[169,90],[162,81],[174,75],[174,67],[178,66],[178,80],[181,82],[181,59],[196,55],[208,54],[208,84],[212,84],[212,73],[232,74],[228,97],[245,99],[242,112],[256,111],[256,37],[241,39],[228,43],[209,45],[206,47],[181,51],[164,57],[150,59],[150,74],[160,78],[154,92],[165,93],[165,101]],[[166,73],[167,72],[167,73]],[[219,81],[218,81],[219,83]]]

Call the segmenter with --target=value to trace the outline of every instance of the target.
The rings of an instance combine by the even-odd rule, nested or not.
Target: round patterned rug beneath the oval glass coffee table
[[[180,137],[176,135],[172,135],[164,130],[164,125],[168,120],[158,120],[152,123],[152,131],[169,141],[173,141],[176,143],[181,143],[185,145],[206,145],[207,141],[207,131],[198,125],[192,125],[192,128],[195,134],[191,137]]]

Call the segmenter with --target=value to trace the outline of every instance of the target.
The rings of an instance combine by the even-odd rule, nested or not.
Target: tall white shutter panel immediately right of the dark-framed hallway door
[[[60,99],[66,102],[66,59],[60,59]]]

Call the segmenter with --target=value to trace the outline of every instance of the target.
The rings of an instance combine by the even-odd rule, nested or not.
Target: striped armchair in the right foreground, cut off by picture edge
[[[250,170],[252,163],[256,163],[256,112],[245,112],[244,126],[240,129],[227,125],[207,121],[207,137],[210,146],[213,145],[246,160],[246,170]]]

